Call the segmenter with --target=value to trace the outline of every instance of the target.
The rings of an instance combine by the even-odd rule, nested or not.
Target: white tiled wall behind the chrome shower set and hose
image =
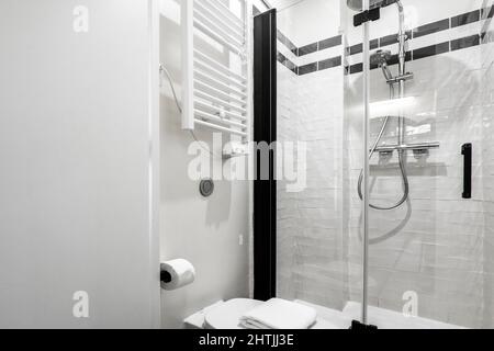
[[[414,292],[422,317],[465,327],[493,327],[490,77],[494,56],[489,34],[494,29],[492,1],[403,0],[403,3],[408,30],[414,30],[407,71],[415,75],[406,84],[406,97],[413,97],[404,111],[406,139],[439,141],[441,146],[428,157],[407,156],[411,195],[405,206],[371,211],[370,304],[401,312],[404,294]],[[484,8],[487,10],[481,12]],[[464,13],[468,14],[457,16]],[[388,45],[390,38],[385,37],[397,32],[395,7],[384,9],[382,19],[371,27],[371,46],[375,48],[374,39],[380,38],[381,48],[396,54],[397,45]],[[345,196],[349,199],[350,262],[358,263],[362,218],[356,184],[362,165],[358,113],[362,101],[359,72],[362,56],[358,31],[348,26],[347,34],[350,55],[346,58],[349,75],[344,134],[349,143],[350,182]],[[396,72],[395,65],[392,71]],[[389,89],[381,71],[374,69],[371,101],[386,99]],[[373,113],[372,117],[371,140],[374,140],[382,118],[380,113]],[[388,144],[395,143],[396,120],[391,123],[384,138]],[[464,143],[473,143],[474,150],[472,200],[461,199]],[[371,162],[372,202],[391,205],[402,194],[396,155],[384,166],[378,167],[379,162],[379,156]],[[350,298],[358,301],[361,285],[350,284]]]

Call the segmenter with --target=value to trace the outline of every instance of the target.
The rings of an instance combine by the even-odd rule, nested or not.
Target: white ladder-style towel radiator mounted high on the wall
[[[182,128],[250,137],[250,0],[182,0]]]

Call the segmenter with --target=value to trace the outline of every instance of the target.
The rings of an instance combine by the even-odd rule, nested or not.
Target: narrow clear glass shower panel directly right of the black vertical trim
[[[362,129],[350,128],[345,116],[343,14],[336,0],[281,1],[278,9],[278,143],[295,156],[299,182],[278,181],[277,290],[349,328],[343,310],[362,291],[361,242],[348,236],[360,228],[348,199],[349,160],[362,145],[348,141]]]

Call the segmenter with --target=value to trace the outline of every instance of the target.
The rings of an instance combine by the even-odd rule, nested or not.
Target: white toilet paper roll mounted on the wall
[[[187,260],[178,259],[161,263],[161,287],[177,290],[192,284],[195,280],[195,269]]]

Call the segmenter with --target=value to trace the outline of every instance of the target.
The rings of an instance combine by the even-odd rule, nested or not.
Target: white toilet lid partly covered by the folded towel
[[[244,329],[239,326],[240,317],[261,304],[262,302],[257,299],[231,299],[206,313],[204,327],[206,329]]]

